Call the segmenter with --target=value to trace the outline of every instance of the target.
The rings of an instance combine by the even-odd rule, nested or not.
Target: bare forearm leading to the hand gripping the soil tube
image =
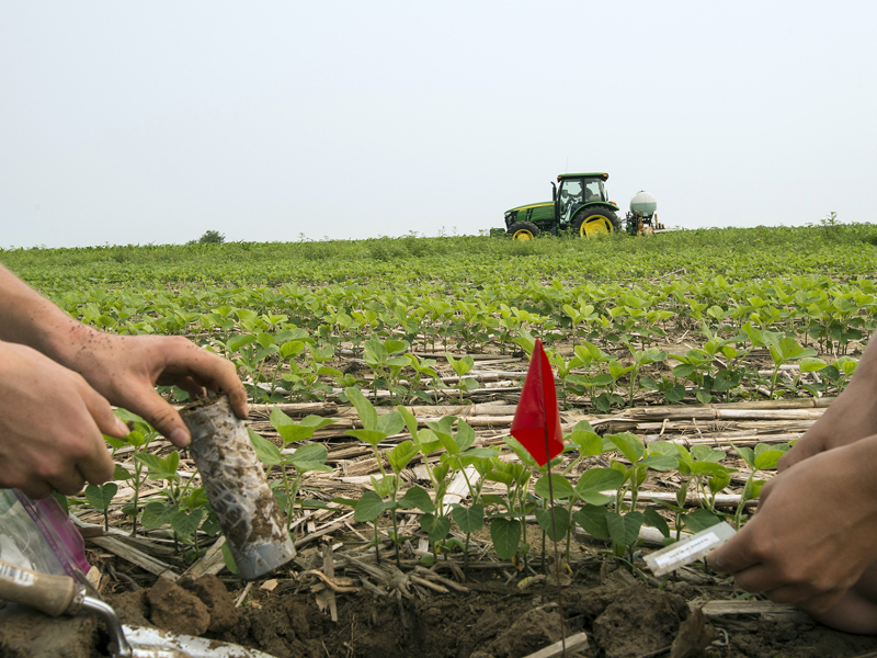
[[[98,331],[68,316],[0,265],[0,340],[20,343],[69,365]]]

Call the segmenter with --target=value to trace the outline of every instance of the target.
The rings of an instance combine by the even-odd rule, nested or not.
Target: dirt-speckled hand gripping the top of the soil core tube
[[[226,393],[235,413],[247,417],[247,392],[235,365],[182,337],[93,331],[66,363],[110,402],[144,417],[179,447],[189,445],[189,429],[156,385],[176,385],[192,396],[204,387]]]

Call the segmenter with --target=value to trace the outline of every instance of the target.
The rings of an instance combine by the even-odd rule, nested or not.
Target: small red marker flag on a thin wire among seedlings
[[[527,378],[512,421],[512,436],[523,445],[539,466],[563,451],[563,432],[557,408],[555,376],[551,364],[537,338],[529,361]]]

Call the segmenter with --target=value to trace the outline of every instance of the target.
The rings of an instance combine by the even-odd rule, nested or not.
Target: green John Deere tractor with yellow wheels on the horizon
[[[551,198],[517,206],[505,213],[505,235],[532,240],[542,232],[572,231],[581,238],[620,230],[618,204],[610,201],[604,182],[608,173],[561,173],[551,183]],[[502,230],[502,229],[498,229]]]

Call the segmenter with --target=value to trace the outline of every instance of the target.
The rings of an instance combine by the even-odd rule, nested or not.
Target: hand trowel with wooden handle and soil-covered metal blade
[[[91,593],[89,593],[89,591]],[[69,576],[39,574],[0,560],[0,599],[35,608],[49,616],[96,612],[111,635],[113,658],[273,658],[235,644],[175,635],[158,628],[124,626],[93,589]]]

